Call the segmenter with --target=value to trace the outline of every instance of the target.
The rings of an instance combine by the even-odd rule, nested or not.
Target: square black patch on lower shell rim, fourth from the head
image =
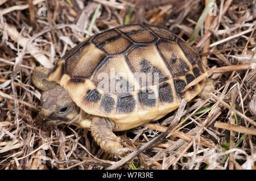
[[[155,93],[151,89],[146,91],[138,92],[139,102],[141,102],[144,106],[154,107],[155,106]]]

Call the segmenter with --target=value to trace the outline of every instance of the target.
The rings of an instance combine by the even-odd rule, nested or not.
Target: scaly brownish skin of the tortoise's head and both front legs
[[[79,113],[78,107],[63,87],[56,82],[45,80],[50,70],[37,67],[32,74],[34,85],[44,91],[41,96],[42,111],[40,114],[49,123],[72,124],[72,120],[77,121],[77,116],[82,117],[81,112]],[[65,107],[67,112],[61,113],[61,109]],[[122,147],[121,140],[112,132],[111,123],[104,117],[93,117],[90,129],[94,140],[103,150],[118,156],[125,154],[126,149]]]

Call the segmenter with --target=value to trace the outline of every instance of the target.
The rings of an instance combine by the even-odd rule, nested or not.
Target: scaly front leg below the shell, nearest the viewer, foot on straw
[[[122,156],[125,149],[121,141],[112,132],[112,125],[103,117],[94,117],[90,126],[92,136],[100,147],[108,153]]]

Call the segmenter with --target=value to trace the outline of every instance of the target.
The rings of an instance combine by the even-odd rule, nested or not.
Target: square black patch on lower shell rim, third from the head
[[[136,105],[136,100],[133,99],[131,94],[118,96],[117,111],[119,112],[133,112]]]

